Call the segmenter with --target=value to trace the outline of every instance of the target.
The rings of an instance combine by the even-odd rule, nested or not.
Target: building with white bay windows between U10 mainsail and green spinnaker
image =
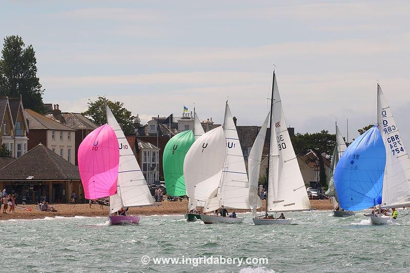
[[[141,141],[137,136],[127,136],[128,143],[134,152],[137,162],[141,167],[141,171],[145,176],[148,184],[154,184],[155,181],[160,180],[160,149],[145,141]]]

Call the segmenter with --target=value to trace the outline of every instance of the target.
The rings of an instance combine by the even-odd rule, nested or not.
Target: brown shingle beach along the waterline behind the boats
[[[316,208],[319,211],[325,211],[333,209],[333,205],[330,200],[311,200],[312,208]],[[134,215],[170,215],[170,214],[185,214],[187,210],[188,201],[182,202],[169,202],[164,201],[158,206],[147,207],[132,207],[129,209],[128,214]],[[263,203],[264,205],[264,203]],[[8,212],[7,214],[0,213],[0,220],[9,219],[39,219],[44,217],[64,216],[107,216],[108,206],[103,206],[103,209],[99,208],[98,204],[92,204],[91,208],[89,204],[52,204],[58,212],[40,212],[37,205],[18,205],[15,208],[15,212]],[[31,211],[24,208],[31,208]],[[264,208],[262,208],[264,209]],[[238,213],[241,210],[236,210]],[[2,206],[3,212],[3,206]]]

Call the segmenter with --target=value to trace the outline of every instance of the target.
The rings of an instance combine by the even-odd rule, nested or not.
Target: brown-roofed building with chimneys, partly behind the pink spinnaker
[[[51,104],[49,103],[48,105],[50,109]],[[78,147],[81,141],[83,141],[84,138],[94,129],[97,129],[98,125],[80,113],[61,112],[58,104],[54,104],[54,108],[51,109],[52,111],[46,114],[46,117],[75,130],[75,154],[78,154]],[[77,157],[75,157],[75,165],[78,165]]]

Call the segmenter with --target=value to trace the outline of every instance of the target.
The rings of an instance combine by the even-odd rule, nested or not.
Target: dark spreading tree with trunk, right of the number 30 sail
[[[320,184],[326,186],[326,172],[324,168],[324,162],[322,153],[327,155],[333,154],[333,149],[336,145],[336,135],[329,134],[329,131],[322,130],[320,133],[314,134],[296,134],[291,137],[295,153],[306,154],[309,151],[313,151],[319,159],[319,177]]]

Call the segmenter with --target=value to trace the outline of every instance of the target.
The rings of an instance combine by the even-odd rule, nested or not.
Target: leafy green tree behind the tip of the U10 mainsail
[[[126,135],[134,135],[134,119],[135,116],[131,114],[131,111],[128,111],[124,107],[124,103],[119,101],[111,101],[106,97],[98,96],[96,101],[89,99],[87,105],[88,110],[84,113],[81,113],[84,116],[91,118],[95,123],[103,125],[107,122],[106,117],[106,108],[104,102],[107,102],[110,107],[114,117],[121,126],[122,131]]]

